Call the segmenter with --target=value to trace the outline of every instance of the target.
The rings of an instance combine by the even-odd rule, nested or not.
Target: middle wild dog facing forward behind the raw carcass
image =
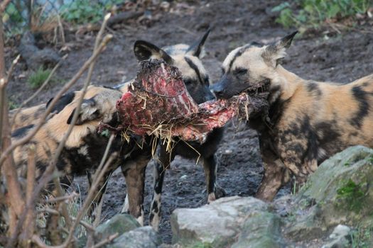
[[[151,58],[161,58],[168,64],[178,67],[190,96],[192,96],[197,103],[203,103],[215,98],[210,91],[210,79],[208,74],[200,61],[203,45],[209,33],[210,30],[208,30],[194,45],[179,44],[159,48],[156,45],[139,40],[135,43],[134,52],[137,59],[140,61],[149,60]],[[171,152],[171,154],[166,152],[166,147],[162,145],[161,141],[159,142],[155,158],[154,194],[151,203],[151,214],[149,216],[149,223],[154,229],[158,230],[161,217],[161,191],[165,170],[168,169],[176,154],[190,159],[195,159],[199,156],[202,157],[209,202],[214,201],[215,198],[224,194],[222,190],[217,192],[217,163],[215,160],[215,152],[222,138],[222,133],[222,129],[214,130],[207,136],[207,140],[202,144],[198,142],[188,142],[188,144],[186,144],[181,140],[176,140],[177,145],[173,147],[173,152]],[[127,206],[125,204],[124,210],[122,211],[126,211],[126,208]]]

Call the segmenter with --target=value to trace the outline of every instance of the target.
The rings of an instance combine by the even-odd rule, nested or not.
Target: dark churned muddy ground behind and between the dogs
[[[193,43],[211,26],[212,33],[205,44],[207,55],[203,58],[212,81],[220,77],[220,63],[234,47],[251,41],[268,42],[281,38],[292,30],[285,30],[275,23],[270,9],[281,1],[196,1],[181,7],[181,11],[164,14],[149,27],[134,23],[113,30],[114,40],[99,58],[93,83],[116,85],[136,74],[136,60],[132,52],[135,40],[149,40],[156,45]],[[185,13],[186,12],[186,13]],[[333,29],[326,32],[303,35],[293,42],[288,50],[284,67],[305,79],[337,81],[347,83],[373,73],[373,28],[365,26],[338,33]],[[69,56],[58,69],[59,81],[67,81],[77,72],[80,65],[90,56],[94,34],[70,35],[67,37]],[[15,57],[16,49],[6,48],[7,62]],[[28,75],[22,65],[16,74]],[[60,89],[54,84],[43,91],[32,103],[41,103]],[[82,81],[75,89],[82,86]],[[13,80],[9,86],[11,101],[20,103],[30,96],[25,79]],[[219,169],[217,183],[225,188],[228,196],[253,196],[261,180],[261,158],[257,135],[241,125],[229,124],[225,137],[217,152]],[[146,172],[145,210],[151,202],[152,162]],[[85,179],[76,184],[85,185]],[[288,189],[281,193],[289,193]],[[105,196],[103,215],[110,218],[121,210],[126,194],[124,178],[120,171],[113,174]],[[160,232],[164,242],[171,242],[169,217],[175,208],[195,208],[206,203],[205,182],[202,167],[195,161],[177,157],[166,173],[163,187],[163,205]]]

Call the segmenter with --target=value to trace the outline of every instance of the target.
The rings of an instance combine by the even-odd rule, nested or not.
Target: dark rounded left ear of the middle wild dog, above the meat
[[[154,59],[163,59],[167,64],[173,64],[173,59],[163,49],[149,43],[145,40],[136,40],[134,53],[139,61]]]

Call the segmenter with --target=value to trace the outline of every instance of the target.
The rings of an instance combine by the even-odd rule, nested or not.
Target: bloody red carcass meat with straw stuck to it
[[[129,91],[117,101],[126,132],[201,142],[207,133],[234,116],[249,118],[254,112],[265,113],[266,106],[263,98],[247,94],[198,106],[185,89],[178,69],[162,60],[142,62]]]

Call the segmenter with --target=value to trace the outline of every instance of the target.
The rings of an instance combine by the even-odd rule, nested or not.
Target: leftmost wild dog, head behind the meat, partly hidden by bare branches
[[[67,128],[72,120],[72,115],[75,113],[78,98],[82,91],[74,91],[64,95],[54,108],[54,114],[40,128],[38,133],[32,138],[31,144],[36,147],[36,178],[38,178],[50,162],[60,141],[65,135]],[[99,135],[97,128],[99,122],[109,125],[117,125],[118,115],[116,102],[121,97],[121,91],[117,89],[109,89],[102,86],[89,86],[85,100],[82,103],[80,113],[75,123],[72,133],[67,139],[65,147],[60,154],[57,162],[57,169],[63,172],[61,178],[62,184],[70,185],[75,175],[91,174],[99,166],[105,147],[109,137]],[[18,140],[27,135],[33,128],[33,124],[23,128],[14,130],[12,140]],[[120,135],[115,137],[110,153],[118,152],[114,162],[110,165],[102,181],[99,182],[96,198],[94,203],[98,203],[104,192],[105,183],[109,175],[119,167],[126,166],[131,157],[136,159],[146,157],[150,159],[150,153],[140,151],[137,144],[141,140],[133,137],[129,142],[124,142]],[[27,145],[17,147],[13,152],[16,162],[18,175],[20,178],[25,178],[27,169]],[[91,183],[91,180],[90,180]],[[94,207],[93,204],[92,207]],[[92,210],[92,208],[91,208]]]

